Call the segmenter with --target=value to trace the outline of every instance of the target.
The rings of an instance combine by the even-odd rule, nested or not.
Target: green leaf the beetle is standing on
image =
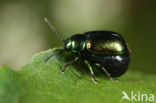
[[[19,71],[0,67],[0,103],[119,103],[123,91],[129,96],[131,91],[156,95],[155,75],[128,70],[116,83],[94,69],[99,81],[95,84],[81,58],[62,74],[60,70],[72,53],[62,51],[44,62],[57,50],[35,54]]]

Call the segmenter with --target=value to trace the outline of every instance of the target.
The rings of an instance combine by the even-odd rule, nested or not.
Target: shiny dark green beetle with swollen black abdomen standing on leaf
[[[112,31],[90,31],[73,35],[64,40],[47,18],[45,18],[45,22],[64,42],[63,50],[72,51],[75,54],[73,60],[65,64],[61,72],[64,72],[79,56],[88,65],[92,80],[95,83],[97,83],[97,80],[92,69],[93,65],[102,69],[113,81],[118,81],[114,77],[119,77],[127,71],[130,62],[130,50],[120,34]],[[48,56],[45,62],[53,55]]]

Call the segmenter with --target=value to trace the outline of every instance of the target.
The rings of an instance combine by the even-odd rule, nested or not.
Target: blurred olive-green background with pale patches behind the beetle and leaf
[[[156,74],[156,6],[150,0],[0,0],[0,65],[18,69],[40,51],[63,46],[44,22],[64,38],[111,30],[129,44],[129,69]]]

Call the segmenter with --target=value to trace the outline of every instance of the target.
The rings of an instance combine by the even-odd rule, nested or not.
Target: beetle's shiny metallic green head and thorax
[[[76,34],[65,40],[64,48],[66,51],[79,52],[84,50],[85,45],[85,36]]]

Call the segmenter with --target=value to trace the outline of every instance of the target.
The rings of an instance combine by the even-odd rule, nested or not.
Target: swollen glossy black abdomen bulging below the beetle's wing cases
[[[124,74],[130,62],[129,54],[124,55],[95,55],[83,52],[82,57],[92,64],[99,64],[104,67],[112,77]]]

